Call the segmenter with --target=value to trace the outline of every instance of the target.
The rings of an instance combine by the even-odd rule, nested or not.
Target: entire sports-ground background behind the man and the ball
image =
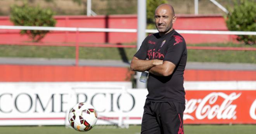
[[[67,111],[88,102],[99,111],[89,134],[139,134],[147,89],[130,61],[139,28],[156,33],[154,10],[169,3],[188,49],[186,133],[253,134],[256,1],[141,2],[0,0],[0,131],[76,133]]]

